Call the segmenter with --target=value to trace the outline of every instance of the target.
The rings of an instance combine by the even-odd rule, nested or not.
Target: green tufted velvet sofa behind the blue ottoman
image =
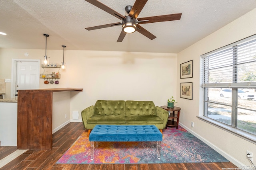
[[[162,132],[169,113],[152,101],[98,100],[81,114],[89,135],[96,125],[155,125]]]

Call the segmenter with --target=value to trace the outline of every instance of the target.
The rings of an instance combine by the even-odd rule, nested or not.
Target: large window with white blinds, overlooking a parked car
[[[204,117],[256,139],[256,35],[202,55],[201,63]]]

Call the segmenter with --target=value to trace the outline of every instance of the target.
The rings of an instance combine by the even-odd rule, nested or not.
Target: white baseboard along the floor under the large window
[[[210,143],[209,141],[207,141],[206,139],[204,139],[203,137],[201,137],[200,135],[198,135],[197,133],[195,133],[194,131],[192,131],[191,129],[189,129],[188,127],[186,127],[185,125],[183,125],[182,123],[179,123],[180,126],[182,126],[184,129],[186,129],[189,133],[191,133],[192,135],[194,135],[195,137],[197,137],[198,139],[200,139],[201,141],[203,141],[204,143],[206,143],[207,145],[209,145],[212,149],[216,150],[216,152],[218,152],[219,154],[221,154],[222,156],[224,156],[227,160],[229,160],[230,162],[232,162],[234,165],[236,165],[237,167],[240,167],[241,165],[243,166],[244,164],[240,161],[238,161],[237,159],[235,159],[234,157],[232,157],[231,155],[227,154],[226,152],[224,152],[222,149],[216,147],[215,145],[213,145],[212,143]]]

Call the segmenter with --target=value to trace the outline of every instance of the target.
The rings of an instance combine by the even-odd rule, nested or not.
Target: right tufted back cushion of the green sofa
[[[156,106],[152,101],[126,101],[126,116],[156,115]]]

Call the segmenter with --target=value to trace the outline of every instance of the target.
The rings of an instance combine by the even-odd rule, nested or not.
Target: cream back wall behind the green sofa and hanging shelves
[[[44,54],[44,50],[0,49],[0,78],[11,78],[12,59],[40,59],[42,63]],[[60,64],[63,51],[47,50],[47,56],[50,63]],[[83,88],[83,92],[70,92],[70,117],[72,111],[81,113],[96,100],[149,100],[162,106],[170,96],[176,98],[177,54],[72,51],[66,47],[64,56],[66,70],[60,69],[60,84],[44,84],[41,78],[40,88]],[[43,71],[41,68],[40,73]],[[10,83],[6,96],[10,96]]]

